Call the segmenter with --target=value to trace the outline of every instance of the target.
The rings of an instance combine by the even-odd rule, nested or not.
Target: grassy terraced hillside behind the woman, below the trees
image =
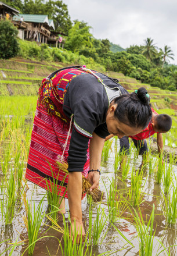
[[[0,95],[37,95],[41,80],[63,66],[71,66],[71,64],[37,62],[21,58],[1,60]],[[120,80],[122,86],[129,92],[141,86],[146,87],[154,108],[177,110],[177,92],[142,84],[136,79],[125,77],[122,73],[107,72],[107,75]]]

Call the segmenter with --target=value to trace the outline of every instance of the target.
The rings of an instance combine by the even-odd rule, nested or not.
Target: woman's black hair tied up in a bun
[[[150,97],[144,87],[131,94],[124,94],[114,99],[117,108],[114,111],[114,118],[131,127],[147,127],[151,118]]]

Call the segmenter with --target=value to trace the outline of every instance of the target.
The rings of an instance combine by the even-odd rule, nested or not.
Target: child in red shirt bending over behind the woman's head
[[[146,138],[153,136],[154,133],[157,133],[158,156],[159,158],[161,157],[163,152],[163,147],[164,147],[163,140],[162,140],[162,133],[167,133],[167,131],[171,129],[172,119],[169,115],[166,115],[166,114],[158,115],[158,113],[154,111],[153,108],[151,108],[151,110],[153,112],[153,116],[149,125],[146,127],[145,130],[141,131],[135,136],[128,136],[128,137],[124,136],[120,138],[120,154],[124,152],[124,155],[122,155],[120,170],[121,170],[122,164],[127,161],[127,155],[129,154],[129,138],[132,138],[132,141],[138,150],[138,154],[142,155],[142,163],[140,165],[140,169],[145,164],[147,159],[147,154],[148,154]],[[111,134],[110,136],[107,136],[106,140],[109,140],[109,138],[111,137],[113,137],[113,134]],[[164,161],[162,159],[162,163],[163,162]]]

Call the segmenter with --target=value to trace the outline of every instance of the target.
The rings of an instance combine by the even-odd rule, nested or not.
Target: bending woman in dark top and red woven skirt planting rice
[[[127,94],[117,82],[75,66],[53,72],[39,88],[26,179],[48,190],[52,172],[54,178],[58,175],[58,157],[68,163],[68,175],[64,179],[66,173],[59,173],[57,189],[60,197],[68,198],[71,223],[75,221],[78,235],[82,228],[82,236],[82,175],[88,176],[91,190],[98,187],[104,138],[133,136],[152,116],[145,88],[138,95]],[[63,212],[64,207],[63,200]]]

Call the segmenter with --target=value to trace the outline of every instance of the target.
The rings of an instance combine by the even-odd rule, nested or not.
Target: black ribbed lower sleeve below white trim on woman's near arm
[[[86,163],[89,138],[78,133],[73,126],[68,150],[68,172],[82,172]]]

